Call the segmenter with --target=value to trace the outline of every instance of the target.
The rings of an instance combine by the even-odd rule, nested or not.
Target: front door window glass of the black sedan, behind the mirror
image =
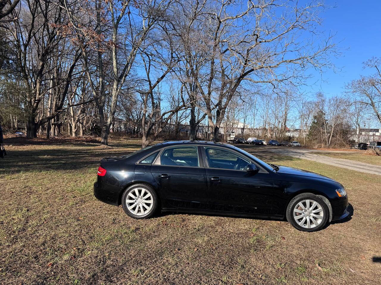
[[[205,147],[205,154],[210,168],[246,170],[250,164],[249,161],[223,149]]]

